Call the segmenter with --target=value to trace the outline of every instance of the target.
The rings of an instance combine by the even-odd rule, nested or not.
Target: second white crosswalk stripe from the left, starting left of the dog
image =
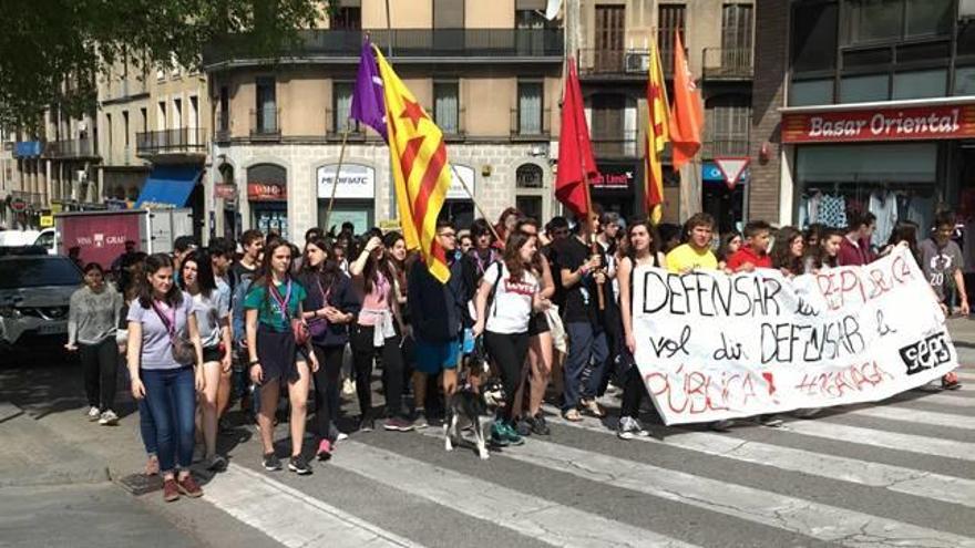
[[[359,442],[343,443],[329,466],[555,546],[694,546]]]

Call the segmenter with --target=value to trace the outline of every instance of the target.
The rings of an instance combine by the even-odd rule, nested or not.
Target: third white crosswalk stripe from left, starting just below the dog
[[[532,440],[502,456],[844,546],[975,547],[975,538],[567,445]]]

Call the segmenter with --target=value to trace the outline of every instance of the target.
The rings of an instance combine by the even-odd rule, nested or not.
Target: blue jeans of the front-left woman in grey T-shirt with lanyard
[[[193,464],[196,386],[193,368],[142,370],[145,403],[156,425],[160,471]]]

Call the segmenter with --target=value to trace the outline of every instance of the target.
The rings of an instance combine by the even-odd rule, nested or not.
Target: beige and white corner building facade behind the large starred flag
[[[216,124],[205,198],[218,231],[298,238],[312,226],[350,221],[362,232],[396,219],[388,147],[348,120],[366,32],[444,133],[454,184],[443,216],[480,216],[464,186],[492,219],[509,206],[553,215],[564,48],[544,4],[401,0],[387,12],[383,0],[343,1],[275,65],[208,52]]]

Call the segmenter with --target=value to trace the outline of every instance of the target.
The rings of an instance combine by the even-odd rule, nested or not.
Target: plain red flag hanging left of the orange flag
[[[578,218],[588,213],[589,179],[598,175],[589,128],[583,110],[575,61],[568,60],[568,76],[562,96],[562,130],[558,133],[558,173],[555,177],[555,197]]]

